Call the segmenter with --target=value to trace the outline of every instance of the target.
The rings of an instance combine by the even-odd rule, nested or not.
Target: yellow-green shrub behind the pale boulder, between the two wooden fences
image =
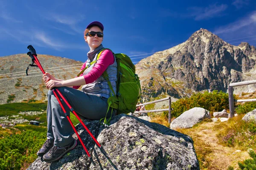
[[[234,99],[235,99],[234,95]],[[189,109],[201,107],[208,111],[222,111],[223,109],[229,109],[228,94],[222,91],[208,91],[204,93],[193,94],[190,98],[186,97],[179,99],[176,102],[172,103],[172,116],[178,117],[185,111]]]

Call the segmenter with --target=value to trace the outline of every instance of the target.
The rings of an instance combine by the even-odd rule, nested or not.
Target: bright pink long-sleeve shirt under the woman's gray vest
[[[94,82],[96,79],[98,79],[103,72],[108,68],[109,65],[112,65],[114,63],[114,56],[112,51],[106,49],[102,51],[102,54],[100,55],[97,63],[95,66],[91,69],[91,71],[88,74],[81,74],[79,77],[84,76],[84,80],[86,84]],[[80,71],[82,71],[86,67],[86,62],[82,65]],[[73,86],[73,88],[78,89],[79,86]]]

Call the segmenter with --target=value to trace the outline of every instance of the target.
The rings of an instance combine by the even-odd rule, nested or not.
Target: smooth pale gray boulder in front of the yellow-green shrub
[[[209,111],[204,108],[192,108],[174,119],[170,128],[189,128],[206,118],[211,118]]]

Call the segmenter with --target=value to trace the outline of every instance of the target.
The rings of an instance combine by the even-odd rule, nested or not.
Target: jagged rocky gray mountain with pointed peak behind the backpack
[[[226,92],[231,82],[255,79],[250,73],[255,70],[255,59],[254,46],[230,45],[200,29],[186,42],[142,59],[136,69],[144,100],[160,94],[180,98],[195,91]]]

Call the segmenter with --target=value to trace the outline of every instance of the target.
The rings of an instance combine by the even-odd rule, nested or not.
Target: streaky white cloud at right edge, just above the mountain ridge
[[[227,26],[221,26],[215,29],[215,34],[231,34],[236,31],[243,32],[244,34],[251,34],[252,31],[255,32],[256,26],[256,11],[253,11],[246,17],[241,18]]]

